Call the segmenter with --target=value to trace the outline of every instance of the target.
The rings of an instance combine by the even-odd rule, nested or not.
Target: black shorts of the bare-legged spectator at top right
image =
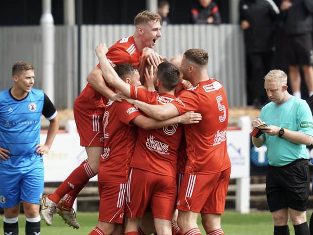
[[[312,34],[286,35],[282,41],[288,65],[313,65]]]

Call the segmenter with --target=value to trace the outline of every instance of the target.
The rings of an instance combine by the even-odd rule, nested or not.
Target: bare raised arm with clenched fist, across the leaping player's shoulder
[[[130,85],[121,80],[117,73],[114,71],[106,56],[107,52],[108,47],[105,43],[100,43],[95,48],[95,53],[99,59],[104,79],[107,81],[107,83],[110,84],[110,86],[114,87],[115,89],[119,90],[126,96],[130,97],[131,95]]]

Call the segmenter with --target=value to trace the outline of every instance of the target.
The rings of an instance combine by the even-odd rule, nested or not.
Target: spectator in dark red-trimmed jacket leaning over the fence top
[[[193,24],[221,24],[219,7],[212,0],[198,0],[191,8]]]

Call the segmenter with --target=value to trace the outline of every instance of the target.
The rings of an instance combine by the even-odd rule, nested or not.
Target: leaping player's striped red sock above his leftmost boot
[[[78,192],[76,190],[76,193],[78,195],[80,190],[82,190],[82,188],[84,188],[84,186],[88,183],[89,179],[95,175],[96,174],[93,173],[88,162],[85,160],[82,164],[80,164],[76,169],[72,171],[67,179],[63,181],[63,183],[51,195],[49,195],[48,198],[51,201],[58,203],[65,194],[74,189],[78,190]]]

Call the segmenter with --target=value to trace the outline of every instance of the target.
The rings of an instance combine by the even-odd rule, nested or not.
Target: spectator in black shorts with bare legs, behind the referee
[[[313,94],[313,0],[277,0],[280,6],[283,58],[294,96],[301,97],[302,68],[309,96]]]

